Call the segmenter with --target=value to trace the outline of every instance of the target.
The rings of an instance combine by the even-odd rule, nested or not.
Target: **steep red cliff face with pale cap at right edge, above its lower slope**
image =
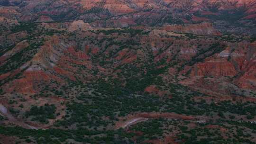
[[[196,63],[192,70],[193,76],[235,76],[239,72],[254,73],[255,55],[254,44],[243,45],[232,50],[227,47],[219,54],[205,59],[205,62]],[[233,47],[234,48],[234,47]]]

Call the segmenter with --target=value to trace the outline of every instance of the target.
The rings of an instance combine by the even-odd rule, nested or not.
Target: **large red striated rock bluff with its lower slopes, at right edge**
[[[204,93],[218,95],[217,99],[232,99],[229,95],[236,95],[235,87],[256,90],[255,62],[255,42],[231,44],[220,53],[204,59],[204,62],[185,66],[181,73],[191,71],[190,78],[182,83]]]

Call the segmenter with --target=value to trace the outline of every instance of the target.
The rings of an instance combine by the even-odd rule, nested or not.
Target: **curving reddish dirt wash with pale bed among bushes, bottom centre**
[[[120,118],[119,122],[116,123],[115,129],[125,128],[137,124],[141,121],[146,121],[149,118],[168,118],[168,119],[183,119],[183,120],[193,120],[195,117],[185,116],[175,113],[139,113],[135,115],[130,115],[127,117]],[[126,119],[125,121],[123,121]]]

